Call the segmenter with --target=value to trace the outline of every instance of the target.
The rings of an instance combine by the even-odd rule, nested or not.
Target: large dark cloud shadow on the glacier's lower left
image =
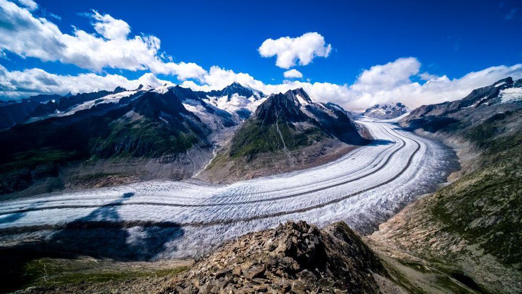
[[[165,250],[175,251],[172,241],[184,234],[179,224],[121,219],[120,206],[115,204],[133,195],[125,193],[88,216],[69,222],[52,234],[46,246],[73,254],[133,261],[149,261]]]

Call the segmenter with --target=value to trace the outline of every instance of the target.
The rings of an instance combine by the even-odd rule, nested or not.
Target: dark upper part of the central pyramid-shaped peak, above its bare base
[[[342,108],[313,103],[302,88],[269,96],[235,133],[230,156],[293,150],[326,138],[363,140]]]

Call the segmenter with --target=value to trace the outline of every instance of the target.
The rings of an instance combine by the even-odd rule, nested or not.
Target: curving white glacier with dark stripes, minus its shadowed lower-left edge
[[[107,223],[119,223],[127,245],[160,240],[147,243],[155,247],[148,257],[158,259],[198,255],[287,220],[319,226],[344,220],[355,230],[370,232],[444,182],[454,155],[392,123],[359,123],[377,140],[303,171],[230,185],[154,180],[5,201],[0,203],[1,240],[51,240],[64,231],[85,234],[85,226],[72,223],[87,223],[97,232]],[[158,239],[172,226],[179,229],[176,238]]]

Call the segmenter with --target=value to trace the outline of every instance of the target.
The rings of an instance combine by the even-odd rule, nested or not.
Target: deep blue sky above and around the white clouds
[[[407,80],[421,84],[426,79],[420,73],[445,76],[453,81],[470,72],[522,62],[522,3],[519,1],[143,3],[53,0],[37,1],[37,4],[37,9],[28,9],[30,13],[35,18],[45,17],[53,22],[63,34],[74,35],[75,28],[96,33],[90,16],[94,9],[100,15],[125,21],[131,28],[128,38],[140,33],[157,37],[161,40],[158,52],[170,55],[175,63],[192,62],[205,71],[218,66],[234,73],[247,73],[264,84],[284,83],[283,72],[288,69],[276,66],[275,56],[261,56],[258,52],[261,44],[269,38],[296,38],[306,32],[321,35],[325,45],[331,45],[331,51],[327,57],[316,56],[307,65],[291,67],[303,74],[302,79],[296,79],[302,83],[331,83],[350,88],[372,66],[408,57],[419,63],[419,69],[417,73],[410,73]],[[17,5],[24,7],[20,3]],[[0,22],[1,26],[5,25]],[[117,66],[93,70],[64,61],[23,58],[23,53],[12,51],[4,48],[5,56],[0,59],[0,64],[10,72],[41,69],[56,75],[117,74],[129,80],[150,72],[150,69],[127,70]],[[507,72],[515,71],[516,75],[518,70]],[[175,74],[155,72],[155,76],[173,83],[185,81]],[[481,82],[489,83],[492,78]],[[205,84],[197,79],[194,82]],[[405,81],[402,79],[398,83]],[[467,90],[459,89],[458,92]],[[357,99],[357,93],[350,95],[345,99]],[[382,99],[386,101],[397,99],[389,93],[385,96]],[[373,103],[378,97],[370,100]]]

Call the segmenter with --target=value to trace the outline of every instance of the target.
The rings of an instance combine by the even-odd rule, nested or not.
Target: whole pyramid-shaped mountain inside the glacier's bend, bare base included
[[[233,181],[290,171],[365,142],[346,111],[314,103],[303,89],[295,89],[267,97],[199,177]]]

